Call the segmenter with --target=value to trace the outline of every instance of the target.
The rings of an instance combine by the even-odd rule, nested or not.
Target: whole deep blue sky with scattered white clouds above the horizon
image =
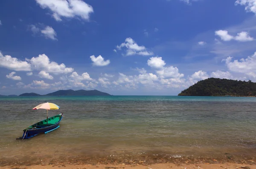
[[[256,0],[1,1],[0,94],[256,82],[255,14]]]

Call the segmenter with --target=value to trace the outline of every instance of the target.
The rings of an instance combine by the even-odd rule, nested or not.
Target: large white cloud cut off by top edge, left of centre
[[[52,11],[55,20],[61,21],[61,17],[90,19],[93,7],[82,0],[36,0],[41,8]]]

